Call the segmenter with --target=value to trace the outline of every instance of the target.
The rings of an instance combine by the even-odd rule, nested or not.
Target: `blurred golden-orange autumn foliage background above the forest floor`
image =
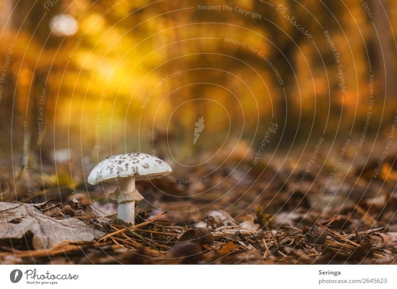
[[[156,149],[182,160],[225,149],[225,140],[230,147],[241,139],[258,147],[270,122],[283,132],[274,146],[317,141],[323,133],[344,139],[361,134],[370,74],[369,131],[388,129],[397,104],[396,1],[366,3],[373,17],[357,0],[1,1],[1,65],[14,47],[1,94],[0,147],[23,153],[24,121],[29,149],[41,149],[43,159],[69,147],[94,159]],[[277,5],[287,8],[284,14]],[[75,19],[75,33],[51,31],[59,14]],[[325,30],[340,55],[344,93]],[[205,134],[193,146],[201,116]]]

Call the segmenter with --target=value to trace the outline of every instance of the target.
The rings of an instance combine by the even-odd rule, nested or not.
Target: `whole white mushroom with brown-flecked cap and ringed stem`
[[[143,197],[135,188],[135,181],[154,179],[172,172],[164,160],[143,152],[116,154],[98,163],[88,176],[88,183],[96,185],[105,180],[116,179],[118,189],[111,199],[118,204],[117,217],[135,223],[135,204]]]

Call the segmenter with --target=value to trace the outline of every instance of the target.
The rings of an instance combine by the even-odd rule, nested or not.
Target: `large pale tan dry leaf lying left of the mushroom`
[[[76,218],[54,219],[44,215],[41,204],[0,202],[0,239],[33,234],[34,249],[48,249],[62,241],[92,241],[105,233]]]

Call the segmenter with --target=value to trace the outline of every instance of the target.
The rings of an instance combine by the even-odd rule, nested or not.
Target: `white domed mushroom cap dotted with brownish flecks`
[[[98,184],[114,178],[154,179],[172,172],[164,160],[143,152],[116,154],[98,163],[88,176],[88,183]]]

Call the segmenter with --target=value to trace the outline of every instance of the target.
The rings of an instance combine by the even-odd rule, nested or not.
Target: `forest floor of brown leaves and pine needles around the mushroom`
[[[176,169],[137,182],[145,200],[135,225],[116,218],[108,196],[115,184],[90,186],[78,169],[71,181],[73,164],[57,165],[54,175],[55,167],[32,162],[27,194],[23,167],[13,185],[2,163],[0,263],[397,263],[396,155],[379,171],[374,155],[346,153],[342,162],[340,151],[313,162],[312,154],[297,156],[301,162],[264,155],[257,165],[237,155]],[[71,223],[77,231],[68,238]]]

